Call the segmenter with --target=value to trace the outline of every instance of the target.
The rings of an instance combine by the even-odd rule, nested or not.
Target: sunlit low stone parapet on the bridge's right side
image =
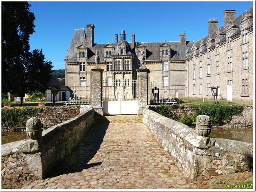
[[[194,129],[150,108],[143,112],[144,124],[190,178],[252,170],[253,144],[199,136]]]

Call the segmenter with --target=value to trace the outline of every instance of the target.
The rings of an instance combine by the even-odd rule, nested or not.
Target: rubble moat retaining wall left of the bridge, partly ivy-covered
[[[16,107],[18,108],[18,107]],[[39,107],[42,108],[41,112],[36,113],[33,117],[40,119],[41,123],[46,127],[51,127],[62,123],[66,120],[69,120],[79,114],[80,106],[79,105],[63,105],[63,106],[45,106]],[[12,131],[26,131],[26,121],[31,117],[24,119],[24,125],[16,126],[4,126],[2,124],[2,131],[12,132]]]

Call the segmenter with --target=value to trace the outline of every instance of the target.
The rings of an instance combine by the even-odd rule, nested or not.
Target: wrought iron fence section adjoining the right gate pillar
[[[151,99],[150,104],[170,103],[175,104],[175,100],[172,98],[174,94],[170,93],[170,87],[164,86],[163,82],[150,82]]]

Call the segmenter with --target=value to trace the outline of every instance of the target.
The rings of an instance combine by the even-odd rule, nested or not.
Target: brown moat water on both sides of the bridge
[[[253,127],[212,127],[209,136],[253,143]],[[6,133],[2,136],[2,144],[27,138],[26,131]]]

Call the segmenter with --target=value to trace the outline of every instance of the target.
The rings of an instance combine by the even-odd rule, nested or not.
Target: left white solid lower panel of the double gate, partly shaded
[[[104,115],[120,115],[121,114],[121,102],[117,101],[103,101]]]

